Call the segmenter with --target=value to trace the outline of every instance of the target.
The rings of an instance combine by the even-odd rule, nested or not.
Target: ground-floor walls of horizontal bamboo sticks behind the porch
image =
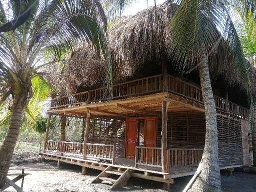
[[[205,116],[203,112],[168,112],[168,148],[203,148]],[[217,115],[219,164],[243,164],[241,120]],[[156,146],[161,146],[161,115],[157,116]],[[116,156],[125,155],[125,118],[92,117],[88,142],[116,144]]]

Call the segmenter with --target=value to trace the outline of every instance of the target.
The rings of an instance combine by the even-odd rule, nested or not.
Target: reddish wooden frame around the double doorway
[[[141,116],[141,117],[126,117],[125,119],[125,142],[124,142],[124,157],[126,157],[126,142],[127,142],[127,122],[129,120],[136,120],[136,141],[137,141],[137,137],[138,137],[138,119],[155,119],[155,146],[156,146],[156,142],[157,142],[157,116]],[[145,130],[145,123],[144,123],[144,130]],[[137,142],[135,142],[135,147],[137,146]],[[136,155],[136,154],[135,154]]]

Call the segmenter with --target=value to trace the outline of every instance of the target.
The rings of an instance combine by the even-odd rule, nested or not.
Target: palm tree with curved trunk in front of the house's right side
[[[181,68],[195,64],[199,70],[205,108],[205,144],[195,176],[184,191],[221,191],[218,165],[216,107],[213,98],[208,55],[221,38],[226,37],[233,52],[234,66],[244,82],[249,83],[249,69],[226,5],[221,0],[177,0],[170,21],[170,52]],[[220,35],[216,30],[223,31]],[[225,32],[225,33],[224,33]],[[196,58],[199,57],[199,61]],[[190,65],[189,65],[190,64]]]

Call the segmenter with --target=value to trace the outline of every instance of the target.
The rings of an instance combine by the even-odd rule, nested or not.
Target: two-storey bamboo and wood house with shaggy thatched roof
[[[130,176],[168,188],[174,178],[195,172],[204,146],[204,104],[197,69],[186,72],[191,66],[180,68],[171,59],[171,7],[157,6],[157,24],[151,7],[111,26],[111,96],[102,84],[104,60],[88,47],[73,53],[74,60],[82,60],[67,64],[76,92],[51,99],[43,158],[80,165],[83,174],[86,168],[102,170],[92,182],[110,181],[112,189]],[[221,41],[209,55],[221,169],[252,163],[246,88],[228,51]],[[81,119],[81,141],[49,140],[53,116]]]

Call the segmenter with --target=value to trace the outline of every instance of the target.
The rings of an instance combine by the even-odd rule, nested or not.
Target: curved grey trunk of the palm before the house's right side
[[[216,107],[210,83],[207,55],[204,48],[201,50],[200,58],[202,63],[198,68],[205,108],[205,143],[202,159],[196,170],[196,172],[201,172],[195,178],[191,189],[188,191],[221,191],[218,165]]]

